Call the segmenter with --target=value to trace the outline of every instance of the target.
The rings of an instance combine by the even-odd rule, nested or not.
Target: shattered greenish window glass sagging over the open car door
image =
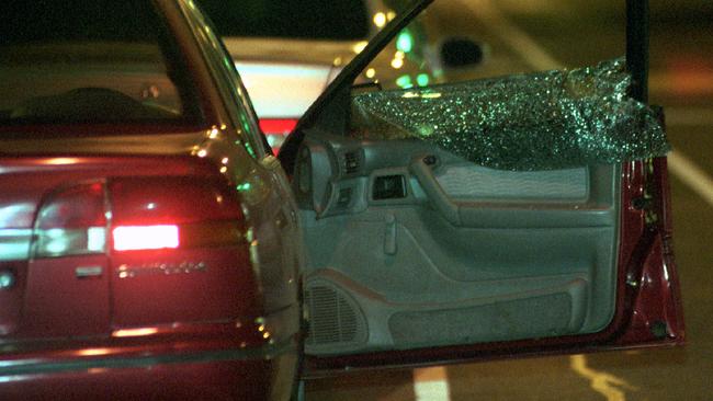
[[[656,114],[626,96],[623,59],[353,98],[352,135],[416,138],[477,164],[553,170],[665,154]]]

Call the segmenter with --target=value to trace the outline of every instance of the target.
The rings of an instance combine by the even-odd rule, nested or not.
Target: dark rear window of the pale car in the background
[[[222,36],[364,39],[369,11],[358,0],[200,0]]]

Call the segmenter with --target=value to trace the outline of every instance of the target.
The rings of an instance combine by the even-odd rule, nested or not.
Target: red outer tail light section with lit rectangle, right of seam
[[[240,203],[223,182],[116,179],[109,193],[113,251],[193,249],[244,241]]]

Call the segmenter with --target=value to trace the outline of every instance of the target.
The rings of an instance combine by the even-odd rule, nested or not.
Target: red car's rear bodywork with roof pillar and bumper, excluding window
[[[228,56],[203,27],[193,30],[200,16],[192,3],[156,7],[190,66],[201,108],[192,122],[0,128],[0,181],[13,188],[0,200],[0,245],[12,250],[0,268],[15,278],[0,290],[2,399],[292,393],[301,251],[286,177],[262,147],[233,65],[222,70]],[[86,187],[97,188],[93,198]],[[65,255],[39,247],[46,209],[90,198],[99,199],[98,213],[86,214],[100,221],[90,229],[104,232],[105,251]],[[177,225],[185,245],[117,250],[112,230],[122,221]],[[57,253],[45,256],[41,248]]]

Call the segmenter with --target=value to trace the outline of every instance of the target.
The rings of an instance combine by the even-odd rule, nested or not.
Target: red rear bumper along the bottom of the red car
[[[120,332],[112,341],[19,347],[3,356],[0,394],[5,400],[285,399],[296,345],[258,345],[262,335],[252,331],[235,324],[167,326],[155,328],[149,340]],[[241,382],[249,386],[236,386]]]

